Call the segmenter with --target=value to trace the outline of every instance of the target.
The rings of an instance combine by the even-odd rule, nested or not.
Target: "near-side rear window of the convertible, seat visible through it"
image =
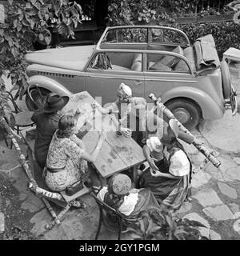
[[[151,72],[190,73],[190,68],[182,58],[170,54],[146,54],[146,70]]]

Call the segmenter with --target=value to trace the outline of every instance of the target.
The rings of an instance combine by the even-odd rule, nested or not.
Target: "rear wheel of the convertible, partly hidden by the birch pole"
[[[196,103],[182,98],[170,100],[165,105],[186,129],[191,130],[198,125],[201,109]]]

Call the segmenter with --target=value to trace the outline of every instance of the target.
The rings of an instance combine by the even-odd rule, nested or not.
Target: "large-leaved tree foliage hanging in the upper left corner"
[[[68,0],[8,0],[5,23],[0,24],[0,68],[10,71],[20,95],[27,85],[26,51],[35,40],[49,45],[52,32],[74,38],[81,14],[81,6]]]

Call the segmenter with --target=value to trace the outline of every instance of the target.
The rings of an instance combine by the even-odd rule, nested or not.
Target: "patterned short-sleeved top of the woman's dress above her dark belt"
[[[52,169],[62,169],[69,158],[78,163],[84,150],[76,144],[76,135],[70,138],[58,138],[58,130],[54,133],[46,158],[46,166]]]

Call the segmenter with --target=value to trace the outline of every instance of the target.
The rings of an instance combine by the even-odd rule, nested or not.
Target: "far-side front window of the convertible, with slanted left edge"
[[[107,32],[106,37],[103,39],[104,43],[125,43],[125,42],[147,42],[147,29],[146,28],[127,28],[116,29]]]

